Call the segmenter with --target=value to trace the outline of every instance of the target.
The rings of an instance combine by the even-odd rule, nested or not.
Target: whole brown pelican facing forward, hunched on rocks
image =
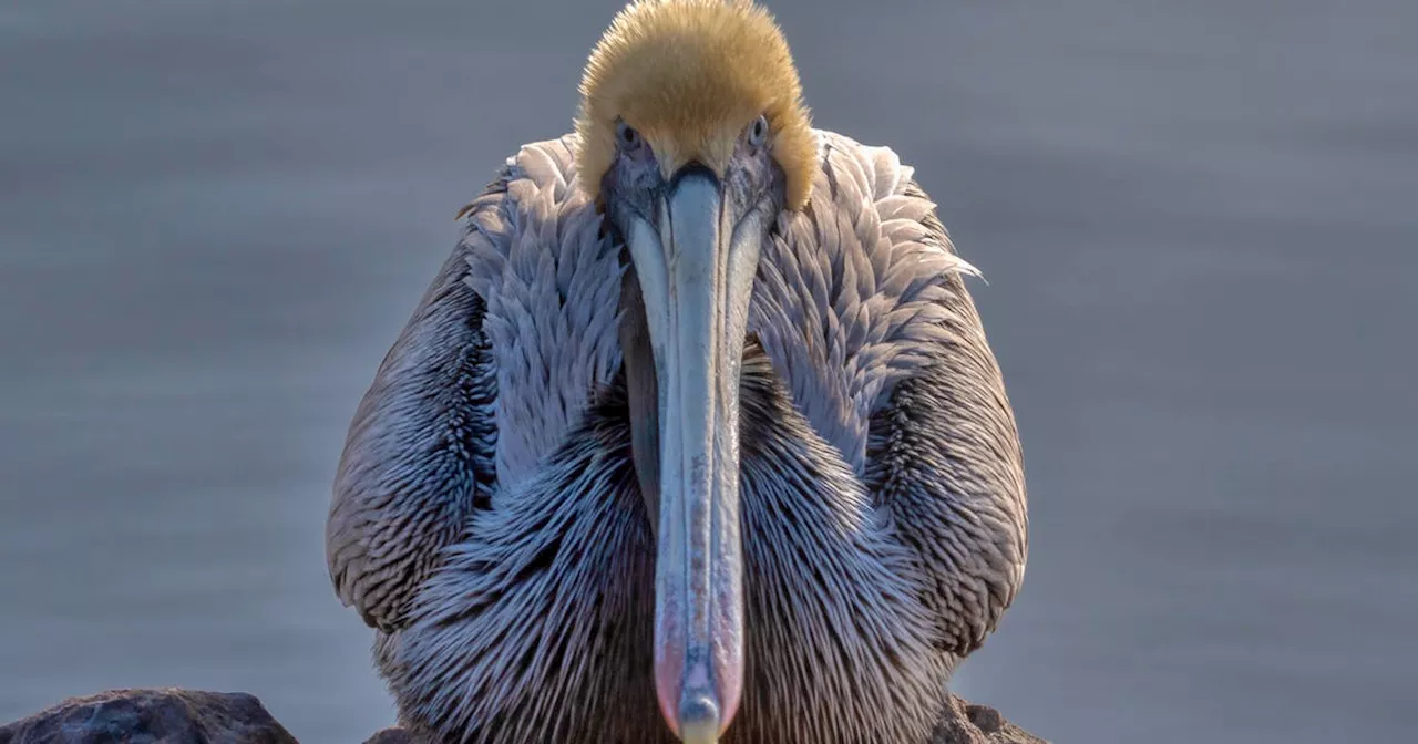
[[[640,1],[363,398],[326,531],[403,723],[930,740],[1027,551],[1014,417],[912,169],[747,1]],[[666,726],[668,723],[668,726]]]

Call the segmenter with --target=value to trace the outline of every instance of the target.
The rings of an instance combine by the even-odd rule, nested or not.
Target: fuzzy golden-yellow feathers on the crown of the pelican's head
[[[787,40],[747,0],[641,0],[611,21],[581,78],[581,187],[593,197],[615,157],[617,119],[649,143],[668,177],[698,160],[723,176],[743,129],[766,115],[787,207],[803,208],[817,147]]]

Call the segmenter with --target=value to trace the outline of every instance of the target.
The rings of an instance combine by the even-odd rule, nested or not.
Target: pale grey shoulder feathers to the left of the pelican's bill
[[[576,169],[571,135],[523,145],[462,211],[457,254],[486,302],[503,489],[535,472],[620,368],[620,247]]]

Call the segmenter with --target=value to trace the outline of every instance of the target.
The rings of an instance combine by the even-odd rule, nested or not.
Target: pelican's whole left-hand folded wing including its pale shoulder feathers
[[[508,159],[350,425],[326,523],[335,590],[398,631],[472,512],[535,472],[620,367],[623,268],[571,140]]]

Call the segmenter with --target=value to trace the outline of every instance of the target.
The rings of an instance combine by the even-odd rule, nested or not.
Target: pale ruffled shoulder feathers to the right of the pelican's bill
[[[749,325],[797,407],[861,472],[872,414],[939,356],[974,268],[891,147],[815,135],[811,197],[763,247]]]

